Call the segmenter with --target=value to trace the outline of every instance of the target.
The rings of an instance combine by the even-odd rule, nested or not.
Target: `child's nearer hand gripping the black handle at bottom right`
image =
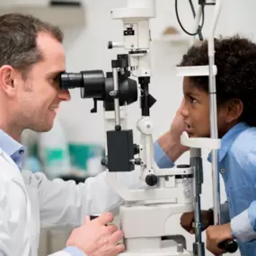
[[[207,250],[218,256],[225,253],[224,250],[218,248],[218,244],[233,239],[230,223],[225,225],[210,225],[207,228]]]

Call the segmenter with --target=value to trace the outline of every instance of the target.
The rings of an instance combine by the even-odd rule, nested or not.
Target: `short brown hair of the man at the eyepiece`
[[[31,66],[42,59],[36,42],[40,31],[49,33],[59,42],[63,40],[58,27],[32,15],[8,13],[0,16],[0,66],[13,66],[26,76]]]

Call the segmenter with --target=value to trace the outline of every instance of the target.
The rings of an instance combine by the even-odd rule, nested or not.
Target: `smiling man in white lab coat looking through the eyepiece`
[[[122,232],[105,226],[112,220],[109,213],[84,223],[84,216],[123,202],[105,181],[105,172],[78,185],[21,172],[22,130],[48,131],[60,102],[70,100],[68,91],[59,88],[59,74],[66,69],[62,38],[59,29],[34,17],[19,13],[0,17],[0,253],[4,256],[37,255],[40,227],[54,225],[81,225],[57,255],[114,256],[124,250],[117,244]],[[174,135],[179,141],[178,133]],[[168,147],[172,144],[179,142],[172,137]],[[156,152],[156,159],[159,155]],[[143,185],[135,172],[118,176],[129,189]]]

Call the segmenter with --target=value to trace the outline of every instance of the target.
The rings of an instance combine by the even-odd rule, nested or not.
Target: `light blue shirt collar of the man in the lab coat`
[[[25,147],[19,142],[6,134],[0,129],[0,147],[8,154],[13,162],[17,164],[19,169],[22,169],[22,154],[25,152]]]

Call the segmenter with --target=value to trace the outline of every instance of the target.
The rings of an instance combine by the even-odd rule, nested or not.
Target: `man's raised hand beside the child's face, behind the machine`
[[[182,100],[181,106],[172,120],[170,130],[158,139],[159,145],[170,159],[172,159],[172,162],[175,162],[181,154],[189,150],[189,147],[181,145],[181,134],[185,130],[185,123],[181,116],[183,105],[184,100]]]

